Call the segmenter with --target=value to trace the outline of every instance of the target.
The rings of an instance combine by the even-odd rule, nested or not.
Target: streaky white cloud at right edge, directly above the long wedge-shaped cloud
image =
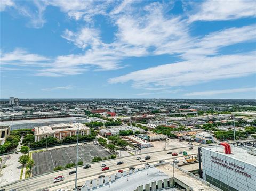
[[[212,32],[201,38],[186,36],[178,41],[178,46],[175,46],[177,43],[169,41],[166,44],[162,44],[156,50],[156,54],[177,53],[184,59],[194,59],[195,57],[218,54],[219,49],[222,47],[255,40],[256,25],[241,28],[233,27]]]

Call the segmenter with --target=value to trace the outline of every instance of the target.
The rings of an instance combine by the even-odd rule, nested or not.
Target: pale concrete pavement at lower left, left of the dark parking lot
[[[21,142],[22,139],[19,142],[17,151],[19,151],[20,147],[22,146]],[[22,156],[22,153],[19,152],[18,154],[13,153],[6,155],[6,157],[2,157],[2,166],[6,165],[6,167],[3,168],[0,172],[0,186],[20,179],[20,173],[22,169],[22,165],[18,162],[20,156]]]

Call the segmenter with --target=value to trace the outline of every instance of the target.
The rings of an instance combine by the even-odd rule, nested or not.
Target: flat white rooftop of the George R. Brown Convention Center
[[[207,147],[202,147],[202,148],[205,150],[217,152],[219,154],[223,154],[223,155],[233,158],[235,160],[239,160],[241,162],[249,163],[249,164],[256,166],[256,156],[249,154],[248,153],[249,150],[247,150],[243,147],[239,147],[239,146],[234,146],[234,145],[230,145],[230,146],[231,146],[231,154],[225,154],[224,147],[221,145],[207,146]]]

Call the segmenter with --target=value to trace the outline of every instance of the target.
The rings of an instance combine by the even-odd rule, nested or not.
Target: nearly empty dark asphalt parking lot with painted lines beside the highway
[[[84,164],[91,163],[92,159],[98,157],[108,157],[111,153],[102,146],[93,144],[79,145],[78,161],[83,161]],[[54,167],[66,164],[76,163],[76,146],[65,148],[57,148],[49,151],[36,152],[32,154],[35,161],[32,176],[53,171]]]

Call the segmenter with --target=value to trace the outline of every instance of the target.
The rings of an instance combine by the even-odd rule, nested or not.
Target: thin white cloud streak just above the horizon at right
[[[211,96],[211,95],[215,95],[215,94],[231,94],[231,93],[238,93],[238,92],[254,92],[256,95],[256,87],[191,92],[191,93],[187,93],[184,95],[185,96]]]

